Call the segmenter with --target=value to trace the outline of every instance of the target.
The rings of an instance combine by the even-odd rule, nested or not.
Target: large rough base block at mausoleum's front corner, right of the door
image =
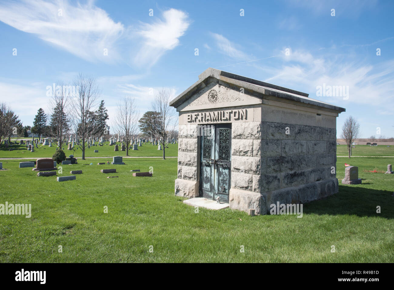
[[[230,188],[229,203],[230,208],[242,210],[243,212],[254,209],[255,214],[265,214],[267,211],[266,199],[257,192]]]

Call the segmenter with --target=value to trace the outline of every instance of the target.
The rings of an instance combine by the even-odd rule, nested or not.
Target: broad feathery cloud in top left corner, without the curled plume
[[[0,20],[89,61],[119,58],[115,42],[123,34],[123,24],[92,1],[75,6],[61,0],[7,2],[0,5]]]

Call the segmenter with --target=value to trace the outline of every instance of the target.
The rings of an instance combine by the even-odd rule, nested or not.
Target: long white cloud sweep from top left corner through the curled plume
[[[139,23],[138,28],[114,21],[94,1],[23,0],[0,4],[0,21],[87,61],[119,62],[151,67],[167,50],[179,45],[190,25],[177,9],[162,13],[163,20]],[[133,41],[137,40],[137,41]],[[130,56],[131,55],[131,56]]]

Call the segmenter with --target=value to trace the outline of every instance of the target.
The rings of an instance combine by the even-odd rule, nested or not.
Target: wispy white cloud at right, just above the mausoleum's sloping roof
[[[285,87],[306,87],[311,98],[335,101],[343,106],[349,102],[372,106],[393,103],[394,60],[372,65],[332,55],[315,57],[302,50],[290,52],[290,56],[283,54],[282,59],[282,66],[271,68],[273,76],[264,81]],[[317,97],[316,86],[323,84],[349,86],[349,99]]]

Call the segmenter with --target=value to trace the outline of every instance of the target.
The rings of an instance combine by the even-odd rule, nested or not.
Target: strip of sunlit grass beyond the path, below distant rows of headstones
[[[53,143],[52,143],[53,144]],[[96,142],[98,144],[98,142]],[[106,142],[103,146],[97,145],[97,147],[90,147],[89,149],[85,149],[85,157],[109,157],[109,156],[126,156],[126,151],[120,151],[121,143],[119,145],[119,151],[114,151],[114,145],[108,145],[109,142]],[[0,148],[0,158],[40,158],[40,157],[52,157],[54,152],[56,151],[56,147],[49,147],[47,145],[39,145],[38,148],[34,148],[34,152],[30,152],[27,150],[25,145],[12,145],[14,148],[13,151],[9,151],[9,148],[4,148],[2,146]],[[77,146],[74,147],[74,150],[67,150],[67,145],[63,145],[65,149],[64,152],[66,156],[73,154],[74,157],[82,157],[82,150]],[[78,148],[78,149],[77,149]],[[95,150],[99,150],[98,153],[94,153]],[[138,150],[129,150],[129,156],[133,157],[149,157],[149,156],[163,156],[163,150],[157,150],[156,145],[151,144],[143,144],[141,147],[138,147]],[[168,148],[165,149],[165,156],[178,156],[178,143],[168,144]]]

